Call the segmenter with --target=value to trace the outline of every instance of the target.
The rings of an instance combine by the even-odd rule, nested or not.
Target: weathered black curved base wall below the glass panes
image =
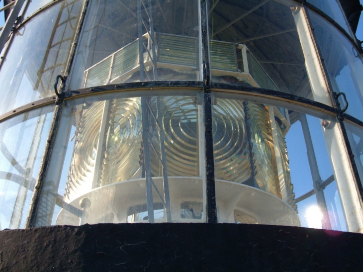
[[[0,271],[363,271],[363,235],[243,224],[97,224],[0,232]]]

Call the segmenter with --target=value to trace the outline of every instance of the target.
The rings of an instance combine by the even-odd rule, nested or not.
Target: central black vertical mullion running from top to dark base
[[[203,69],[203,118],[205,146],[205,194],[207,223],[217,223],[217,205],[215,198],[213,129],[212,129],[212,99],[210,93],[210,65],[207,3],[200,0],[200,42]]]

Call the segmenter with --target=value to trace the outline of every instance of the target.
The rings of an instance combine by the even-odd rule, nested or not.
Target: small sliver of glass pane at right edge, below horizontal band
[[[347,134],[354,154],[354,160],[356,161],[358,168],[358,173],[361,182],[363,182],[363,129],[349,122],[344,123],[347,128]]]

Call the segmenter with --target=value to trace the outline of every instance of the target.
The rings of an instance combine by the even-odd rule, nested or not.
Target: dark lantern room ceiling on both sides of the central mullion
[[[151,0],[154,31],[198,37],[195,0]],[[141,1],[142,33],[149,30],[149,1]],[[280,91],[312,99],[292,11],[282,0],[214,0],[208,3],[210,40],[245,44]],[[212,8],[213,7],[213,8]],[[87,67],[138,39],[137,1],[93,2]],[[91,16],[89,17],[91,18]],[[150,28],[149,28],[150,29]],[[237,49],[240,71],[241,53]]]

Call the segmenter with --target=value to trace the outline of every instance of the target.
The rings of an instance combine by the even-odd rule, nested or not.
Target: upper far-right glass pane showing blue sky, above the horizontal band
[[[363,64],[351,42],[331,23],[309,12],[333,90],[347,95],[346,113],[363,120]],[[345,102],[341,100],[342,108]]]

